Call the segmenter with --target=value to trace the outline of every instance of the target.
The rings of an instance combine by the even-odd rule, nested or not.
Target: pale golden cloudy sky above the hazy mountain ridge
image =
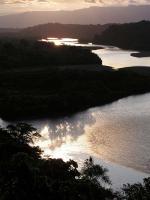
[[[0,15],[27,11],[74,10],[90,6],[150,4],[150,0],[0,0]]]

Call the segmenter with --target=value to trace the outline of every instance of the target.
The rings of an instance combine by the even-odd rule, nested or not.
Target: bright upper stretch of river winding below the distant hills
[[[150,67],[150,57],[136,58],[132,57],[131,53],[136,51],[122,50],[113,46],[96,45],[92,43],[81,44],[78,39],[73,38],[47,38],[47,42],[53,42],[55,45],[71,45],[71,46],[88,46],[88,47],[103,47],[103,49],[93,50],[103,61],[103,65],[113,68],[123,68],[132,66],[147,66]]]

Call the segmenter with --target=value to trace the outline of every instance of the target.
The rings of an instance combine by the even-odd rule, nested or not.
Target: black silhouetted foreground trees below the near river
[[[73,160],[42,158],[42,151],[34,145],[38,137],[37,130],[25,123],[0,128],[0,199],[150,199],[150,178],[114,192],[108,187],[107,169],[94,164],[92,158],[85,160],[80,170]]]

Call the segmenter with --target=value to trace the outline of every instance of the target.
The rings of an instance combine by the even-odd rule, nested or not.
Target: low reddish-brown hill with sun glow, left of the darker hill
[[[80,40],[93,40],[96,34],[101,34],[109,25],[79,25],[48,23],[25,29],[0,29],[0,36],[16,36],[36,39],[46,37],[69,37]]]

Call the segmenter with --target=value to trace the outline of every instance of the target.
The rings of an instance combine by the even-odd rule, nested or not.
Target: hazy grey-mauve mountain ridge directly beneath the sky
[[[106,24],[150,20],[150,5],[90,7],[74,11],[35,11],[0,16],[0,28],[25,28],[45,23]]]

